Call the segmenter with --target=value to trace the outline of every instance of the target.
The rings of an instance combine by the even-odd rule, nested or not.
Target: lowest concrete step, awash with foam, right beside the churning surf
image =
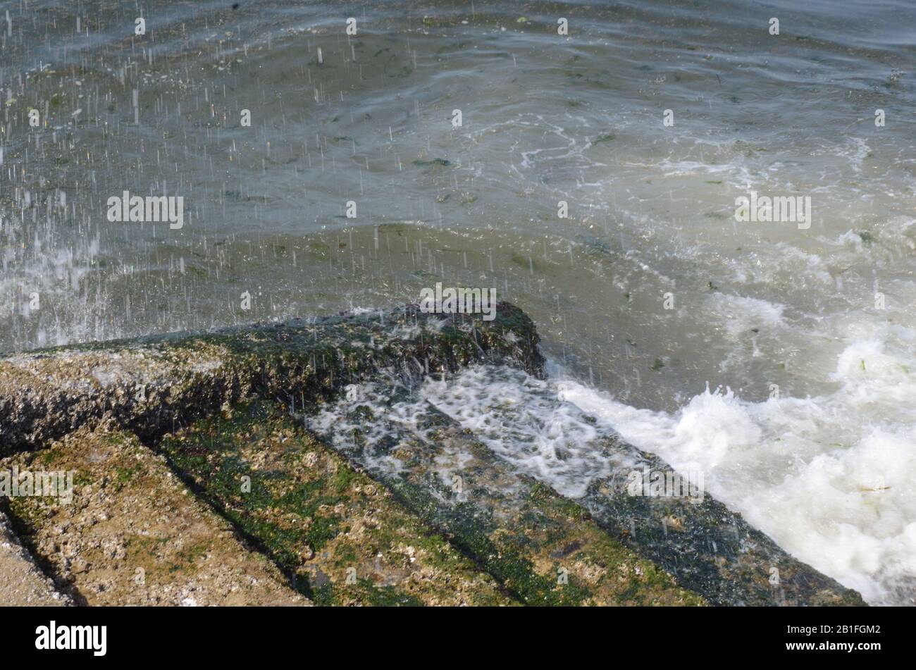
[[[484,365],[429,379],[418,395],[716,605],[865,604],[715,500],[697,473],[627,444],[556,385]]]

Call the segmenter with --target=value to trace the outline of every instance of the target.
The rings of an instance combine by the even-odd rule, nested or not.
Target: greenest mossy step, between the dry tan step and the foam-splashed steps
[[[318,604],[519,604],[272,402],[236,405],[158,448]]]

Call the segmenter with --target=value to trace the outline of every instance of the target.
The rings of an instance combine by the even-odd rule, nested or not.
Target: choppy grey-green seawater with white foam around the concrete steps
[[[582,410],[913,602],[909,0],[32,0],[0,30],[0,350],[493,286],[558,368],[551,424],[512,380],[507,458],[574,492]],[[183,226],[110,222],[125,190]],[[810,227],[736,221],[752,190]],[[509,393],[463,382],[429,393],[470,423]]]

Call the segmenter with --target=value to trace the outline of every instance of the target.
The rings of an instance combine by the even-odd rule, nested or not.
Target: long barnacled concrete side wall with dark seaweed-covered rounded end
[[[258,396],[301,407],[382,367],[406,375],[512,361],[540,373],[531,320],[384,313],[116,340],[0,358],[0,455],[112,419],[150,441]]]

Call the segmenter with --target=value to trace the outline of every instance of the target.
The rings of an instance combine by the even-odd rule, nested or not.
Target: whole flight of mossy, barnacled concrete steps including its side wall
[[[538,342],[504,303],[0,358],[0,470],[79,473],[70,503],[6,506],[78,603],[862,604],[708,494],[634,497],[615,472],[564,498],[418,394],[474,363],[542,376]]]

